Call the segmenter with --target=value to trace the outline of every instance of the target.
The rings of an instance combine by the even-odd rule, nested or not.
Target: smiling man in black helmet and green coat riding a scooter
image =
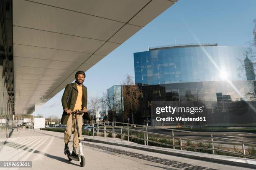
[[[64,154],[70,154],[68,143],[70,142],[72,132],[74,131],[73,152],[71,154],[71,157],[73,158],[79,157],[76,152],[76,149],[79,148],[76,122],[78,122],[79,134],[81,135],[83,115],[90,120],[90,116],[87,113],[87,88],[83,85],[84,78],[85,73],[83,71],[76,72],[76,81],[66,86],[61,98],[62,107],[64,110],[61,117],[61,124],[67,125],[64,132]],[[72,112],[76,110],[81,110],[81,112],[77,113],[77,121],[75,119],[75,115],[72,114]]]

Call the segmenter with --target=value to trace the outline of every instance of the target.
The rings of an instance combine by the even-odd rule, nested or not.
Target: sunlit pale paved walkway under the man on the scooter
[[[82,136],[83,138],[91,138]],[[72,149],[72,143],[69,143]],[[112,151],[113,152],[112,152]],[[45,130],[17,130],[0,150],[1,161],[32,161],[32,168],[9,168],[10,170],[64,170],[64,169],[87,169],[87,170],[189,170],[187,168],[164,165],[155,160],[145,160],[136,156],[122,155],[114,150],[131,152],[156,157],[158,160],[172,160],[192,166],[202,166],[215,170],[251,170],[232,165],[223,165],[191,158],[182,158],[162,153],[152,153],[148,151],[126,148],[117,145],[103,143],[84,142],[84,154],[86,159],[85,167],[80,167],[79,162],[67,160],[64,155],[64,134]],[[179,165],[185,165],[179,164]],[[191,166],[190,166],[191,167]],[[8,169],[8,168],[1,168]],[[206,169],[205,169],[206,170]],[[208,169],[210,170],[210,169]]]

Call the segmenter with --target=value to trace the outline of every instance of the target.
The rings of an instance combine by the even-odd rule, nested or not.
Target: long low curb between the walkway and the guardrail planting
[[[138,150],[145,150],[145,151],[154,152],[154,153],[163,153],[166,155],[174,155],[174,156],[180,156],[180,157],[186,157],[186,158],[192,158],[192,159],[198,159],[198,160],[206,160],[206,161],[211,161],[211,162],[215,162],[215,163],[236,165],[236,166],[241,166],[241,167],[246,167],[246,168],[256,168],[256,164],[251,164],[251,163],[241,163],[241,162],[235,162],[235,161],[231,161],[231,160],[223,160],[223,159],[218,159],[218,158],[208,158],[208,157],[204,157],[203,155],[202,156],[189,155],[188,153],[194,153],[194,152],[190,152],[190,151],[184,151],[184,153],[176,153],[176,152],[172,152],[169,150],[158,150],[157,148],[145,148],[142,146],[127,145],[124,143],[113,143],[113,142],[108,142],[108,141],[104,141],[104,140],[97,140],[97,139],[90,139],[90,138],[84,138],[84,141],[95,142],[95,143],[105,143],[105,144],[109,144],[109,145],[118,145],[118,146],[123,146],[123,147],[127,147],[127,148],[138,149]],[[209,154],[209,155],[211,157],[214,156],[212,154]],[[232,158],[232,157],[230,157],[230,158]],[[241,159],[243,159],[243,158],[241,158]],[[251,159],[246,159],[246,160],[251,160]]]

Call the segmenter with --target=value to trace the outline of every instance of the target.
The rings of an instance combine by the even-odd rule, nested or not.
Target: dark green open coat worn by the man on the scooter
[[[77,95],[78,95],[77,84],[74,83],[72,92],[69,96],[70,89],[71,89],[71,84],[67,84],[67,86],[64,90],[64,93],[62,95],[62,98],[61,98],[61,103],[62,103],[63,110],[68,108],[73,111],[74,106],[77,101]],[[87,108],[87,88],[84,85],[82,85],[82,89],[83,89],[82,108],[84,108],[84,107]],[[67,102],[68,96],[69,96],[69,102]],[[69,114],[67,114],[67,112],[63,111],[62,117],[61,117],[61,124],[67,125],[68,118],[69,118]],[[87,120],[91,120],[90,115],[87,112],[84,113],[83,118],[87,119]]]

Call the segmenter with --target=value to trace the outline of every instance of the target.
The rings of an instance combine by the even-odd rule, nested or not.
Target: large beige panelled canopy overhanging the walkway
[[[177,0],[13,0],[15,114],[31,114]]]

